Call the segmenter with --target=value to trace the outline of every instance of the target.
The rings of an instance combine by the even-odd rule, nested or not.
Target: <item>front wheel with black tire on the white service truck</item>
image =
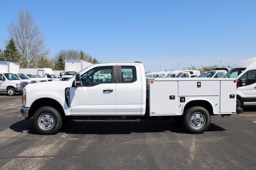
[[[41,118],[44,119],[44,121],[42,121]],[[41,123],[44,122],[50,124],[43,126]],[[52,122],[54,123],[52,124]],[[33,124],[35,129],[42,135],[53,135],[62,127],[62,117],[60,113],[53,107],[44,106],[38,109],[34,114]]]

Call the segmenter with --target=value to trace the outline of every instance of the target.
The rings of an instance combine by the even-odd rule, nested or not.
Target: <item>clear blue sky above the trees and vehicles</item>
[[[151,71],[256,57],[256,0],[5,0],[1,49],[19,8],[34,16],[50,57],[82,49],[103,62],[142,61]]]

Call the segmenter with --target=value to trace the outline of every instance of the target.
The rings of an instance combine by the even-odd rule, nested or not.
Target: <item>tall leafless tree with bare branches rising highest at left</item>
[[[34,23],[34,18],[29,10],[18,12],[18,20],[12,21],[8,27],[10,38],[13,38],[19,53],[22,55],[21,66],[27,66],[26,39],[28,40],[28,60],[30,66],[37,65],[38,59],[47,57],[49,49],[46,49],[44,37]]]

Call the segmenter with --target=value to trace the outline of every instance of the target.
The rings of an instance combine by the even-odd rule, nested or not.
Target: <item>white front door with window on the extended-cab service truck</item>
[[[81,74],[81,82],[70,87],[72,115],[116,115],[116,65],[96,66]]]

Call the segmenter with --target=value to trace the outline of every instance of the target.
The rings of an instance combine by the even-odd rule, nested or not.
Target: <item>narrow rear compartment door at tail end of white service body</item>
[[[230,95],[235,95],[230,98]],[[220,113],[236,112],[236,83],[234,80],[220,81]]]

